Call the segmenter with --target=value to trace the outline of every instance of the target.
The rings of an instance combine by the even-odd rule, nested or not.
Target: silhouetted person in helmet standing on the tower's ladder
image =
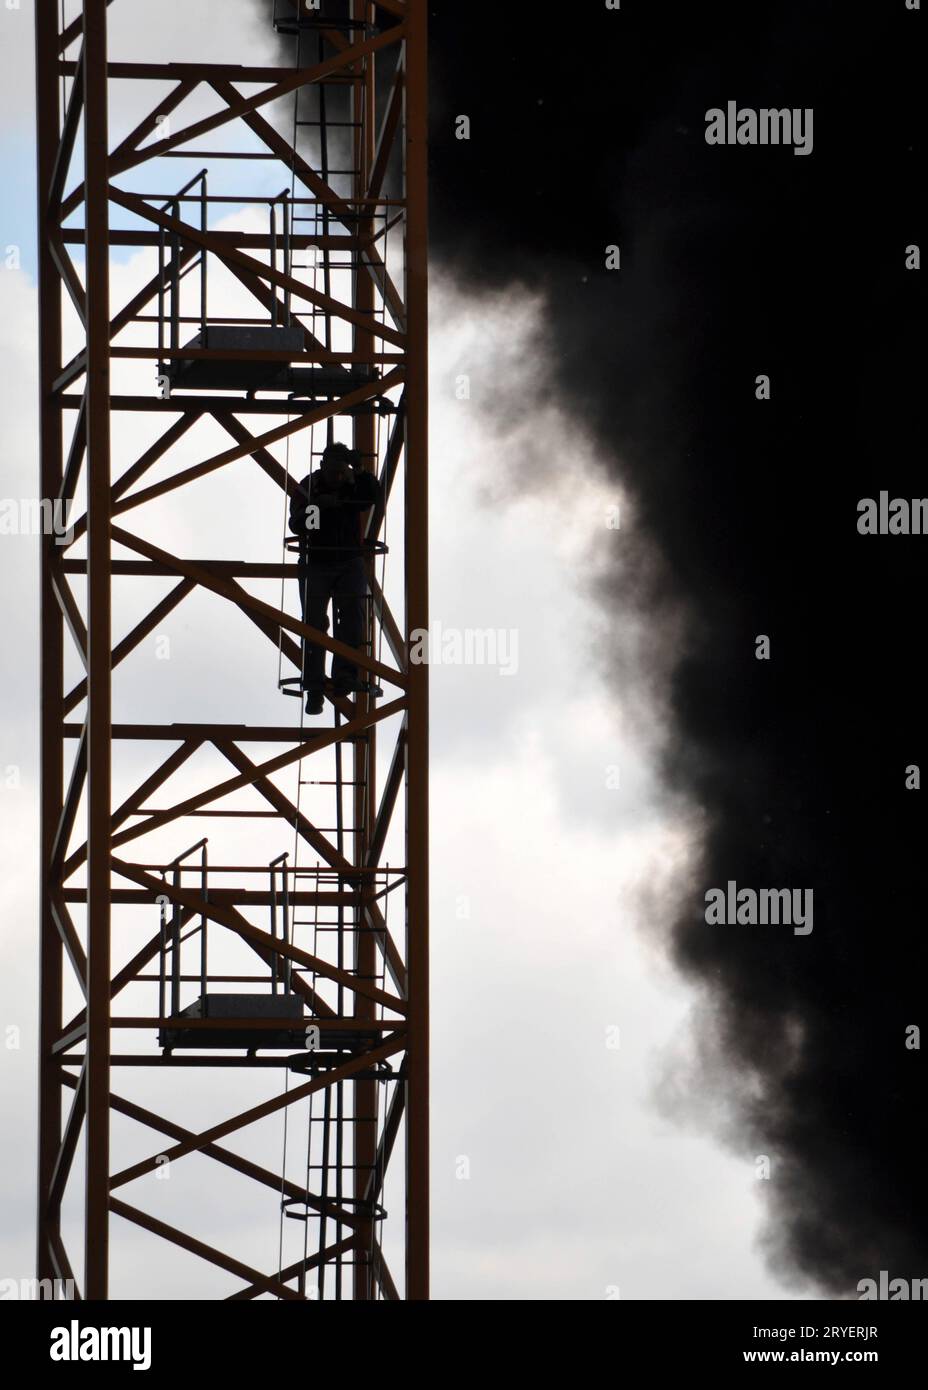
[[[364,634],[364,517],[381,498],[372,473],[358,467],[360,456],[343,443],[329,443],[321,467],[307,474],[290,498],[290,531],[300,538],[300,602],[303,621],[326,631],[329,602],[339,642],[360,646]],[[322,713],[325,648],[303,642],[306,713]],[[361,689],[357,666],[332,657],[332,689],[347,695]]]

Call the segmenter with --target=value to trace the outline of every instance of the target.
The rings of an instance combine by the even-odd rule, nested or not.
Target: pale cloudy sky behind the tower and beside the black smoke
[[[229,0],[218,28],[208,10],[204,0],[164,0],[156,19],[154,7],[117,0],[113,53],[178,57],[183,32],[186,58],[275,60],[257,0]],[[0,270],[0,491],[19,499],[38,489],[28,6],[0,10],[0,170],[10,195],[0,242],[21,250],[19,268]],[[117,128],[132,120],[128,106],[114,110]],[[178,161],[178,185],[186,168]],[[285,182],[276,172],[267,179]],[[249,215],[235,213],[226,225],[249,225]],[[149,274],[144,254],[121,254],[114,302]],[[622,1298],[795,1297],[800,1291],[777,1283],[759,1252],[764,1184],[756,1151],[736,1141],[721,1150],[697,1120],[699,1106],[681,1123],[660,1099],[674,1090],[688,1020],[702,1001],[645,927],[681,891],[700,820],[657,778],[668,719],[654,657],[660,634],[649,631],[631,578],[627,602],[608,614],[593,600],[603,570],[621,574],[624,556],[640,559],[646,546],[635,532],[635,495],[614,481],[621,459],[604,460],[558,403],[545,328],[543,299],[518,284],[477,292],[447,274],[433,277],[432,616],[445,628],[504,630],[517,642],[510,674],[463,664],[432,671],[433,1297],[599,1300],[617,1289]],[[468,399],[460,399],[461,375],[470,378]],[[219,438],[217,430],[217,448]],[[133,417],[115,418],[114,439],[125,466],[147,435]],[[175,461],[201,457],[203,445],[206,436],[192,439]],[[276,560],[279,499],[256,471],[242,460],[226,470],[218,496],[217,480],[206,480],[183,516],[153,513],[151,530],[139,524],[139,532],[157,541],[169,528],[171,546],[183,555]],[[608,524],[615,507],[618,528]],[[647,563],[658,567],[661,557],[649,555]],[[3,1277],[31,1275],[33,1251],[36,578],[35,539],[0,537],[8,599],[0,1023],[19,1030],[6,1034],[19,1045],[0,1051],[11,1136],[0,1147]],[[296,612],[295,594],[289,602]],[[121,603],[117,627],[132,621],[132,600]],[[232,634],[222,621],[218,599],[175,614],[164,626],[171,660],[147,648],[119,670],[117,717],[196,709],[189,717],[281,719],[270,644]],[[614,662],[602,659],[604,642],[621,652],[620,688]],[[119,774],[131,778],[132,769]],[[158,845],[169,855],[179,848],[169,834]],[[183,1123],[193,1113],[175,1094],[185,1073],[165,1076],[133,1072],[133,1094]],[[125,1093],[129,1083],[117,1079]],[[250,1086],[219,1073],[196,1113],[240,1108]],[[258,1077],[254,1094],[267,1094],[261,1086]],[[151,1137],[133,1137],[122,1122],[114,1138],[121,1154],[151,1151]],[[279,1144],[279,1126],[268,1144]],[[232,1147],[251,1152],[245,1140]],[[279,1148],[261,1152],[272,1163]],[[207,1238],[274,1268],[272,1194],[263,1208],[245,1209],[233,1180],[214,1168],[186,1159],[172,1184],[143,1179],[126,1197],[167,1220],[196,1212]],[[392,1215],[399,1211],[393,1194]],[[71,1232],[74,1220],[71,1208]],[[117,1279],[129,1295],[201,1298],[231,1287],[115,1218],[113,1238],[114,1291]]]

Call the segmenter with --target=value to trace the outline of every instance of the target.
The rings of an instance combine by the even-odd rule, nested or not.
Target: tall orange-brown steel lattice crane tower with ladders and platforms
[[[426,1298],[428,666],[410,660],[428,630],[425,0],[279,0],[279,67],[185,63],[182,33],[176,63],[113,61],[121,3],[83,0],[67,24],[36,7],[42,496],[72,521],[42,564],[38,1273],[135,1297],[115,1264],[110,1279],[131,1232],[163,1264],[218,1266],[233,1298]],[[117,83],[135,121],[118,139]],[[268,118],[285,97],[290,133]],[[176,177],[185,152],[210,185]],[[224,188],[242,171],[232,193],[213,190],[214,153]],[[283,192],[249,192],[275,164]],[[265,229],[217,231],[231,206]],[[142,252],[153,274],[125,297],[117,267]],[[167,506],[197,514],[193,488],[221,509],[235,464],[279,514],[306,471],[285,450],[306,459],[314,432],[351,443],[386,498],[365,523],[365,688],[329,694],[315,724],[278,698],[303,639],[340,648],[300,620],[296,556],[203,559],[214,538],[164,525]],[[260,598],[267,580],[286,599]],[[204,649],[217,621],[229,635],[207,684],[235,719],[197,717],[182,663],[163,723],[114,717],[124,663],[172,614],[196,641],[204,599]],[[243,631],[279,662],[276,721],[254,717]],[[222,1076],[272,1086],[217,1119]],[[306,1182],[286,1150],[265,1156],[285,1115],[306,1125]],[[263,1126],[246,1156],[236,1140]],[[203,1175],[186,1223],[154,1200],[165,1163]],[[231,1232],[297,1218],[299,1258],[258,1266],[207,1240],[210,1172],[239,1184]],[[404,1212],[385,1220],[390,1184]]]

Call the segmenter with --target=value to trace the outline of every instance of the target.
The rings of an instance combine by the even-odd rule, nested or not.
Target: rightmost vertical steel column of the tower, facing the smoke
[[[406,632],[428,631],[428,10],[408,0],[406,40]],[[411,649],[407,645],[407,652]],[[428,663],[408,662],[406,821],[408,1076],[406,1297],[429,1287]]]

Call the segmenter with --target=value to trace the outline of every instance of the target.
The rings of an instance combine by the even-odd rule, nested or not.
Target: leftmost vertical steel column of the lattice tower
[[[42,496],[54,500],[61,486],[61,411],[51,398],[61,368],[61,278],[51,256],[49,195],[58,150],[58,25],[56,7],[36,13],[36,183],[39,231],[39,453]],[[49,1193],[61,1143],[61,1084],[51,1059],[51,1045],[61,1031],[63,942],[54,920],[54,869],[51,863],[63,781],[63,621],[54,594],[56,538],[42,537],[42,885],[39,945],[39,1205],[36,1220],[36,1273],[54,1279],[51,1244],[57,1243],[60,1216],[49,1208]]]

